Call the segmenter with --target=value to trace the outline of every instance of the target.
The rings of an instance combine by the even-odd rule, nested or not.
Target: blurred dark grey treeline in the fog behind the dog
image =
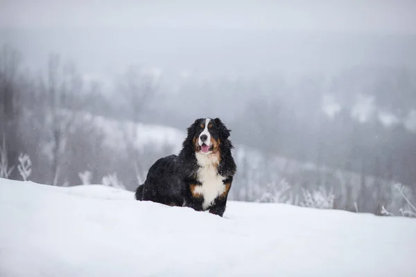
[[[33,181],[71,186],[80,184],[85,179],[80,174],[88,171],[91,175],[82,176],[97,184],[116,172],[132,190],[148,167],[173,148],[155,144],[138,149],[137,128],[125,122],[184,129],[202,103],[225,118],[236,145],[259,154],[259,159],[240,156],[234,199],[302,204],[311,191],[323,188],[333,192],[331,208],[378,213],[381,206],[395,202],[397,211],[401,202],[393,200],[390,184],[416,190],[416,134],[405,124],[416,109],[415,82],[415,73],[406,69],[357,66],[331,78],[285,80],[276,74],[209,80],[200,86],[188,80],[171,95],[159,79],[128,69],[108,94],[100,82],[85,81],[76,66],[62,63],[59,55],[51,54],[44,70],[34,72],[24,67],[17,51],[3,46],[2,172],[21,179],[16,166],[19,154],[25,153],[32,160]],[[323,109],[328,97],[336,103],[332,114]],[[353,113],[360,97],[372,99],[365,122]],[[386,125],[381,112],[397,122]],[[123,132],[97,125],[96,115],[119,120]],[[122,148],[103,143],[112,133],[120,136]],[[415,194],[411,189],[408,193]]]

